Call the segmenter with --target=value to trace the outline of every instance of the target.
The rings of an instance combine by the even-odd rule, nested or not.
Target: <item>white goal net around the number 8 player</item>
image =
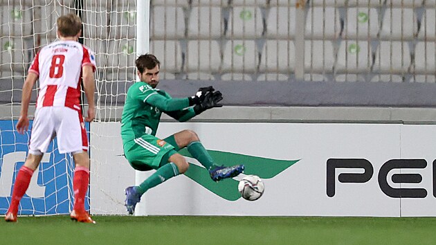
[[[30,131],[15,130],[21,89],[30,62],[42,46],[57,39],[56,19],[66,13],[82,18],[80,42],[96,53],[96,100],[98,122],[117,121],[129,84],[136,79],[136,1],[0,0],[0,214],[10,205],[12,186],[28,152]],[[37,86],[36,86],[37,87]],[[34,87],[29,116],[33,119],[38,90]],[[86,108],[86,102],[83,107]],[[86,125],[90,132],[90,125]],[[31,128],[31,124],[30,124]],[[96,134],[99,134],[98,131]],[[89,138],[92,135],[88,134]],[[101,134],[100,137],[111,136]],[[109,137],[109,138],[108,138]],[[96,171],[90,147],[91,182]],[[103,146],[104,147],[104,146]],[[56,142],[48,147],[21,199],[19,215],[66,214],[73,208],[74,163],[70,154],[60,154]],[[103,152],[105,149],[101,149]],[[113,152],[113,149],[107,149]],[[101,164],[100,164],[101,165]],[[98,164],[96,165],[98,166]],[[90,208],[90,192],[85,206]],[[116,200],[120,203],[120,200]]]

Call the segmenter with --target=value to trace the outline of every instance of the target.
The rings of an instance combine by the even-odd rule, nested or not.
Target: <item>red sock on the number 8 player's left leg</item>
[[[33,170],[23,166],[19,169],[17,178],[15,179],[14,190],[12,191],[12,200],[8,212],[12,212],[17,215],[18,205],[21,198],[26,193],[29,187],[30,179],[32,179]]]

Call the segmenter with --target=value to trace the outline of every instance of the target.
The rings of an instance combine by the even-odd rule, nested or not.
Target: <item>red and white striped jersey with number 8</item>
[[[44,46],[28,71],[39,76],[36,107],[70,107],[80,111],[82,66],[88,65],[96,71],[96,56],[79,42],[57,41]]]

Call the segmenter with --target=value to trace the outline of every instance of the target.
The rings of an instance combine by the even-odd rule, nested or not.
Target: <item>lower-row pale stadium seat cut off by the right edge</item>
[[[415,74],[435,74],[435,42],[418,42],[415,46]]]

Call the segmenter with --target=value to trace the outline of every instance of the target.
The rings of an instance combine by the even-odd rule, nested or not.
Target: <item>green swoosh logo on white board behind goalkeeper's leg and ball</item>
[[[208,150],[210,156],[214,158],[217,165],[237,165],[244,164],[244,174],[255,174],[260,176],[261,179],[271,179],[277,176],[288,167],[297,163],[300,160],[278,160],[272,158],[263,158],[258,156],[248,156],[243,154],[236,154],[231,152],[219,152]],[[183,156],[192,158],[187,149],[182,149],[180,152]],[[241,197],[241,194],[237,191],[237,185],[239,181],[235,179],[224,179],[218,183],[212,181],[209,176],[208,170],[204,167],[189,164],[189,169],[185,172],[185,175],[193,181],[199,183],[204,188],[210,190],[228,201],[236,201]]]

